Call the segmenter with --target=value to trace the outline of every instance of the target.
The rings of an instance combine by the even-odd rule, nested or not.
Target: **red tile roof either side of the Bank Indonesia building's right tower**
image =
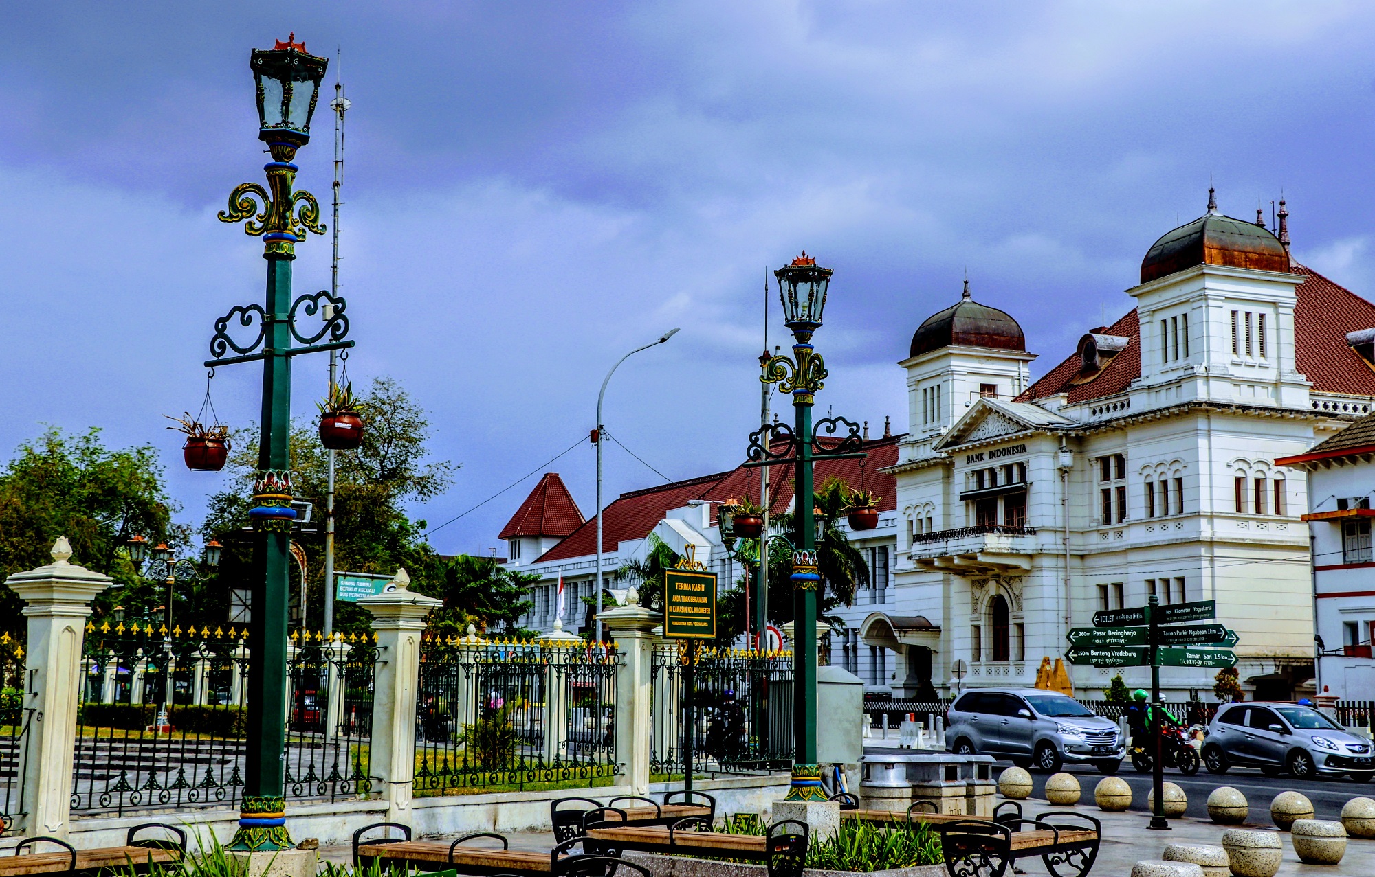
[[[1295,363],[1299,374],[1323,393],[1375,396],[1375,371],[1346,344],[1346,333],[1375,327],[1375,304],[1332,283],[1312,268],[1294,264],[1304,282],[1295,287],[1294,330],[1298,337]],[[1079,355],[1072,353],[1033,384],[1018,401],[1034,401],[1068,390],[1070,403],[1089,401],[1121,393],[1141,377],[1141,330],[1136,309],[1101,330],[1130,338],[1126,349],[1092,381],[1068,386],[1079,374]]]

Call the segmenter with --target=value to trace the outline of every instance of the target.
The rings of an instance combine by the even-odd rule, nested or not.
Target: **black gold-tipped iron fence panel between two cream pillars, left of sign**
[[[415,793],[610,782],[615,649],[426,638]]]

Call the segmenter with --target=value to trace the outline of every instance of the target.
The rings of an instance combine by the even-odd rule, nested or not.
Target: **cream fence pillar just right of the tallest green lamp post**
[[[373,683],[373,741],[368,774],[386,797],[386,821],[411,822],[411,784],[415,779],[415,701],[421,672],[421,635],[425,617],[443,605],[406,588],[404,569],[386,590],[358,601],[373,613],[378,665]]]

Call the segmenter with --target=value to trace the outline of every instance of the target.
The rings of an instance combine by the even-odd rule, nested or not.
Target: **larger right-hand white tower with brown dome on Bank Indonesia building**
[[[1290,253],[1261,221],[1207,212],[1160,236],[1141,260],[1137,300],[1144,399],[1308,407],[1294,363]],[[1159,388],[1159,389],[1147,389]]]

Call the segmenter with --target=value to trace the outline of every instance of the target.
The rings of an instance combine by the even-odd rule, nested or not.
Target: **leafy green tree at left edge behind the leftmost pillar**
[[[0,576],[52,562],[52,543],[66,536],[73,561],[111,576],[114,587],[95,599],[98,616],[122,605],[131,617],[162,602],[121,548],[129,536],[184,548],[186,528],[172,525],[175,503],[150,445],[106,448],[100,430],[50,429],[19,445],[0,470]],[[0,588],[0,630],[22,634],[22,602]]]

